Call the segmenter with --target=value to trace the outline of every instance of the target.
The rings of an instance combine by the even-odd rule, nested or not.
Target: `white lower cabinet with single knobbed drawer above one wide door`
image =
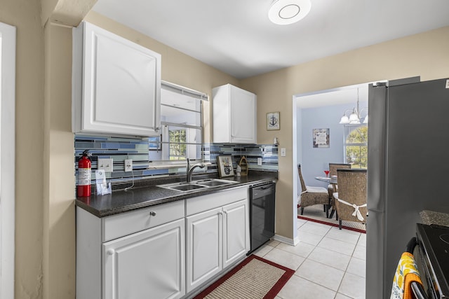
[[[76,209],[76,298],[184,295],[184,200],[103,218]]]

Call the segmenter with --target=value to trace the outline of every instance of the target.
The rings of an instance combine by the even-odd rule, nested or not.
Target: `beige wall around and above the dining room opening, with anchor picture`
[[[449,77],[449,27],[349,51],[241,81],[257,94],[257,142],[279,137],[286,157],[279,157],[276,233],[293,237],[296,196],[293,183],[293,95],[381,79],[421,76],[422,81]],[[281,111],[281,130],[267,131],[265,113]],[[372,121],[372,120],[370,120]],[[373,120],[375,121],[375,120]]]

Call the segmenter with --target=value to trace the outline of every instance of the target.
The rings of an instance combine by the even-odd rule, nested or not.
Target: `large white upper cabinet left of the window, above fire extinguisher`
[[[72,131],[159,135],[161,55],[82,22],[73,31]]]

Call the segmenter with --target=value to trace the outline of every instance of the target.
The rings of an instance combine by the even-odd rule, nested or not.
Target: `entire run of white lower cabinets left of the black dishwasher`
[[[99,218],[76,208],[76,298],[185,298],[250,250],[248,188]]]

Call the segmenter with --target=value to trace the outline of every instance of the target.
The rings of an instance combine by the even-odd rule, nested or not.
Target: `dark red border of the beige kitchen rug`
[[[229,279],[229,277],[232,277],[232,275],[234,275],[236,272],[238,272],[244,265],[246,265],[247,263],[249,263],[251,260],[253,260],[253,258],[256,258],[257,260],[261,260],[264,263],[267,263],[269,265],[272,265],[274,267],[278,267],[279,269],[282,269],[284,271],[286,271],[281,278],[279,278],[278,281],[276,281],[276,284],[274,284],[274,286],[268,291],[268,293],[264,296],[263,299],[274,299],[277,295],[277,293],[279,293],[279,291],[281,291],[281,288],[283,286],[285,286],[285,284],[287,283],[288,279],[290,279],[290,277],[293,276],[293,274],[295,274],[295,270],[291,270],[288,267],[284,267],[283,265],[279,265],[276,263],[273,263],[271,260],[265,260],[264,258],[260,258],[259,256],[255,256],[255,255],[250,255],[248,256],[248,258],[246,258],[245,260],[243,260],[241,263],[239,263],[239,265],[236,265],[236,267],[234,267],[231,271],[227,272],[223,277],[220,277],[220,279],[218,279],[217,281],[215,281],[213,284],[211,284],[210,286],[208,286],[204,291],[202,291],[201,293],[199,293],[198,295],[196,295],[194,297],[194,299],[202,299],[204,297],[206,297],[206,295],[208,295],[210,292],[212,292],[213,290],[215,290],[215,288],[217,288],[217,286],[220,286],[220,284],[222,284],[223,282],[225,282],[227,279]]]

